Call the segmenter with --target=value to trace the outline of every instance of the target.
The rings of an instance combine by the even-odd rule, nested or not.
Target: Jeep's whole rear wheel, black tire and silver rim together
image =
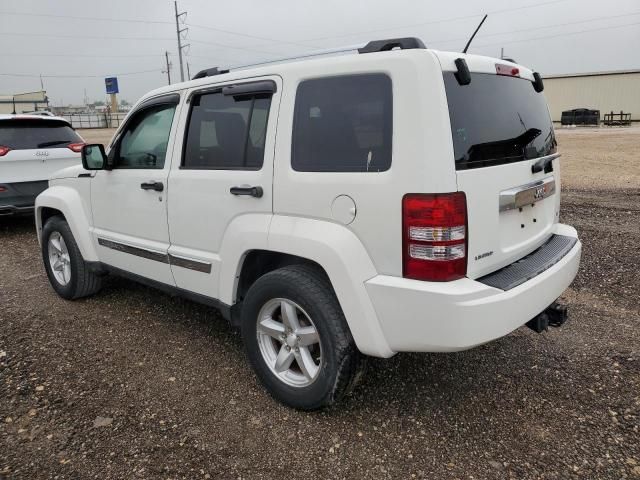
[[[326,407],[362,376],[364,357],[329,279],[317,267],[292,265],[260,277],[247,292],[241,322],[251,366],[286,405]]]

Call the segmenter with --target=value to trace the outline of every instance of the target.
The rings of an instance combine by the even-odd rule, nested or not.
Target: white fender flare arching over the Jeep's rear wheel
[[[264,243],[263,238],[260,240]],[[310,218],[274,215],[266,248],[253,248],[295,255],[319,264],[329,276],[358,349],[376,357],[390,357],[395,353],[387,344],[365,288],[365,281],[378,272],[358,237],[347,227]],[[235,279],[240,273],[242,258],[249,250],[243,249],[242,254],[237,250],[233,259],[222,257],[223,263],[230,260],[235,264],[233,274],[229,270],[220,276],[220,299],[227,304],[234,301]],[[223,265],[222,271],[225,270],[228,269]]]

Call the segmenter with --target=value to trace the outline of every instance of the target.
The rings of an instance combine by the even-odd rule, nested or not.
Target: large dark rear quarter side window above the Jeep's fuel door
[[[388,170],[392,130],[387,75],[305,80],[296,94],[291,166],[299,172]]]

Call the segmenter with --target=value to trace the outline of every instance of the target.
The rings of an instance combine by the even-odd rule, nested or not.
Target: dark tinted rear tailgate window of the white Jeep
[[[556,151],[549,110],[529,80],[472,73],[460,85],[444,72],[456,169],[543,157]]]

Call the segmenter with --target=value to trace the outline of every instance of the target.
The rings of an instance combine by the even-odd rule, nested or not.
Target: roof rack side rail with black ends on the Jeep
[[[205,70],[201,70],[196,73],[191,80],[196,80],[198,78],[204,77],[212,77],[214,75],[222,75],[224,73],[229,73],[230,70],[242,70],[251,67],[258,67],[261,65],[270,65],[273,63],[281,63],[281,62],[290,62],[294,60],[300,60],[303,58],[311,58],[311,57],[319,57],[322,55],[331,55],[331,54],[342,54],[347,52],[358,52],[358,53],[374,53],[374,52],[385,52],[393,49],[400,50],[410,50],[414,48],[427,48],[422,40],[416,37],[405,37],[405,38],[387,38],[384,40],[373,40],[366,45],[351,45],[337,48],[330,48],[326,50],[317,50],[308,53],[302,53],[300,55],[296,55],[294,57],[285,57],[285,58],[277,58],[273,60],[266,60],[264,62],[259,63],[250,63],[247,65],[235,65],[228,69],[221,69],[219,67],[207,68]]]

